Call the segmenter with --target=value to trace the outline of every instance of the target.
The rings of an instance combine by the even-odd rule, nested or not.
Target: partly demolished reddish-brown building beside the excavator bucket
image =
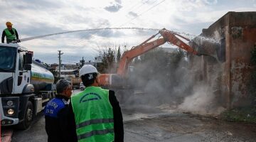
[[[253,69],[250,52],[256,44],[256,12],[228,12],[197,38],[201,51],[218,59],[190,58],[191,69],[199,68],[199,80],[212,88],[223,107],[250,104],[247,84]]]

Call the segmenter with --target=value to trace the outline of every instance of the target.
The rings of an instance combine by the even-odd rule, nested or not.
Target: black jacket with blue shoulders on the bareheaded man
[[[46,105],[44,112],[48,142],[75,141],[76,135],[70,134],[68,100],[69,99],[63,95],[56,95],[56,97],[51,99]]]

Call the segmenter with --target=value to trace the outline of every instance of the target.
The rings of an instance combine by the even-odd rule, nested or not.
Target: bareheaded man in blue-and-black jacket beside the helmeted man
[[[70,133],[68,121],[68,102],[72,94],[72,86],[67,80],[59,80],[56,84],[56,90],[58,94],[48,102],[44,110],[48,142],[73,142],[76,135],[75,132],[73,136]]]

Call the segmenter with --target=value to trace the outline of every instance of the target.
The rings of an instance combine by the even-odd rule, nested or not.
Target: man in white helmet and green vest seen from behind
[[[85,90],[71,97],[70,115],[79,142],[122,142],[122,112],[114,91],[99,87],[97,69],[84,65],[79,71]],[[71,122],[70,122],[71,123]]]

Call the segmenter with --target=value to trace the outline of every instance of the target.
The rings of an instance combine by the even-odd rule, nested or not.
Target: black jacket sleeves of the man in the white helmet
[[[114,142],[123,142],[124,141],[124,126],[123,126],[123,118],[122,118],[122,111],[119,107],[119,102],[117,101],[117,97],[114,95],[114,91],[110,90],[109,92],[109,100],[110,104],[113,108],[114,114]],[[70,130],[72,135],[76,134],[75,132],[75,115],[72,108],[72,103],[70,102]],[[78,141],[74,139],[73,141]]]

